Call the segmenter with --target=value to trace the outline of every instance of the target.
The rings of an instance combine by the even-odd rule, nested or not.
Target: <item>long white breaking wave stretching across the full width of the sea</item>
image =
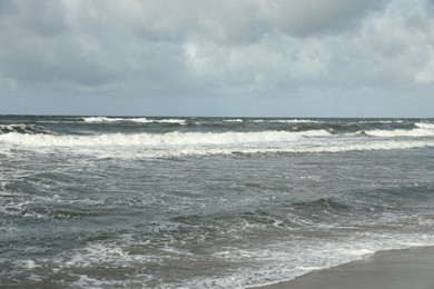
[[[108,158],[152,158],[254,153],[322,153],[434,147],[434,139],[383,139],[300,132],[167,132],[96,136],[0,134],[0,148],[87,153]]]

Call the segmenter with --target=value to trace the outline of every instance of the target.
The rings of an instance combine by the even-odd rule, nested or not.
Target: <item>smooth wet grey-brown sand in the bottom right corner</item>
[[[434,247],[379,251],[262,289],[433,289]]]

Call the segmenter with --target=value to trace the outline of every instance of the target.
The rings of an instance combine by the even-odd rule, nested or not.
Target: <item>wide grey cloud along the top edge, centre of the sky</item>
[[[345,30],[378,7],[374,0],[131,0],[103,1],[98,7],[73,3],[69,11],[114,21],[147,39],[179,41],[195,37],[243,44],[274,30],[297,37]]]

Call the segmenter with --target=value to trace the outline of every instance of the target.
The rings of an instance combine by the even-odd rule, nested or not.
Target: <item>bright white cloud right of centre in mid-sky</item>
[[[189,42],[185,44],[185,58],[188,71],[197,78],[251,90],[327,79],[331,51],[315,39],[268,34],[248,46]]]

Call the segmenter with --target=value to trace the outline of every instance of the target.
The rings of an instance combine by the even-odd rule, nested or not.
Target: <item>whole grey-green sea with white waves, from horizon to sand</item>
[[[246,288],[425,245],[433,119],[0,117],[0,287]]]

